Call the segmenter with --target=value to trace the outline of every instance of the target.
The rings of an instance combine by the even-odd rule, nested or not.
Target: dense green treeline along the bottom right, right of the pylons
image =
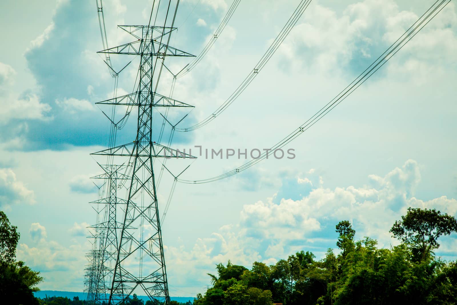
[[[249,270],[222,263],[208,274],[212,287],[194,305],[381,305],[457,304],[457,263],[435,257],[437,239],[457,231],[454,217],[435,209],[408,209],[389,231],[402,243],[377,248],[370,237],[355,241],[349,221],[336,225],[335,255],[324,259],[300,251],[267,266]]]

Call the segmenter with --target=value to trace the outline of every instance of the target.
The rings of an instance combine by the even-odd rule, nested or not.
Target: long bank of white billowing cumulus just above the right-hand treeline
[[[274,263],[300,250],[313,251],[319,259],[327,248],[335,248],[335,225],[344,219],[353,224],[356,238],[370,236],[388,247],[398,243],[388,230],[408,207],[457,214],[456,199],[442,196],[424,201],[412,196],[420,181],[420,166],[414,160],[384,176],[370,175],[362,187],[326,188],[314,170],[293,180],[298,190],[292,193],[302,192],[301,198],[290,199],[288,192],[294,187],[289,183],[278,192],[284,196],[279,202],[268,198],[246,204],[237,224],[224,225],[209,237],[199,238],[191,248],[168,247],[170,278],[183,286],[201,287],[209,278],[200,274],[212,273],[215,264],[228,259],[250,267],[255,260]],[[452,243],[452,239],[441,242]],[[443,247],[446,257],[448,250]]]

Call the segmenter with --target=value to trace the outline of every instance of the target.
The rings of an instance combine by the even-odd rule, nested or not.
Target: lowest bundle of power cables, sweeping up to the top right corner
[[[274,151],[282,148],[287,145],[293,139],[297,138],[300,134],[308,130],[311,126],[317,123],[321,118],[323,118],[327,113],[334,109],[340,102],[345,100],[346,97],[351,95],[361,84],[363,84],[367,79],[369,79],[377,70],[379,70],[389,59],[393,57],[401,48],[404,47],[422,28],[424,28],[446,5],[451,2],[451,0],[438,0],[422,15],[420,18],[414,22],[414,24],[409,27],[402,36],[399,37],[381,56],[379,56],[367,69],[365,69],[355,80],[351,82],[343,91],[341,91],[335,98],[328,102],[324,107],[319,109],[311,118],[309,118],[305,123],[300,127],[296,128],[292,133],[288,134],[285,138],[280,140],[275,145],[271,146],[270,150],[265,151],[260,155],[259,158],[253,159],[249,162],[244,163],[244,165],[239,166],[238,168],[223,173],[222,175],[201,179],[201,180],[184,180],[178,179],[178,182],[189,183],[189,184],[200,184],[215,182],[221,179],[231,177],[241,171],[248,169],[251,166],[254,166],[258,162],[266,159],[268,151]]]

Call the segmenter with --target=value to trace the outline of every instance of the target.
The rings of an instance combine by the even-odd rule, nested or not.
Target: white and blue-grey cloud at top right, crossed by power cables
[[[365,0],[346,7],[341,16],[312,5],[280,47],[282,67],[358,74],[395,42],[417,19],[393,0]],[[457,16],[451,3],[388,65],[391,75],[426,73],[457,50]],[[379,73],[378,73],[379,75]]]

